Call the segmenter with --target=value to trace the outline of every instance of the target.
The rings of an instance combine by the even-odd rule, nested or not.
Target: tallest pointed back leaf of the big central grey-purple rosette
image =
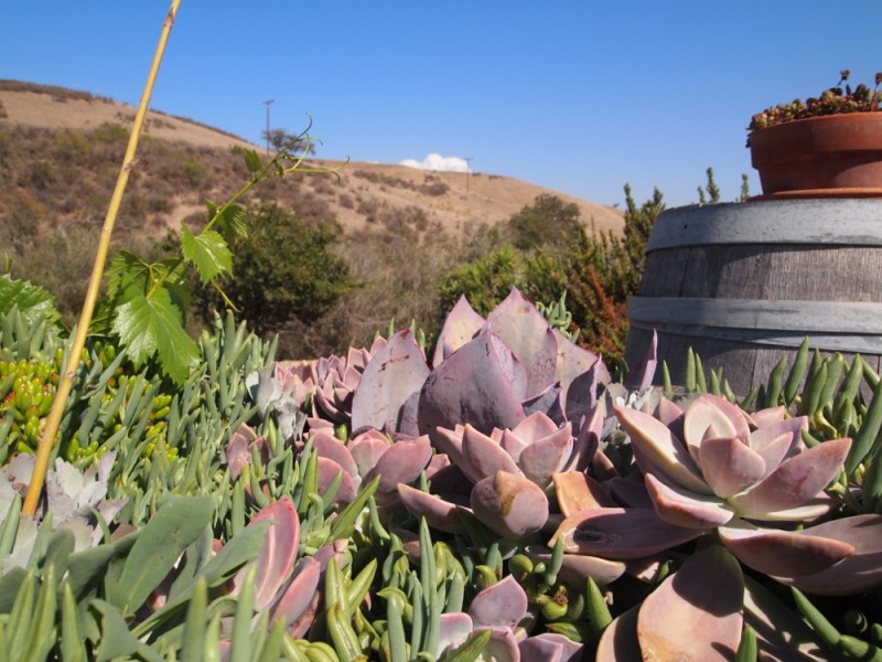
[[[527,369],[524,399],[538,395],[555,382],[558,342],[548,320],[513,287],[487,316],[487,325]]]

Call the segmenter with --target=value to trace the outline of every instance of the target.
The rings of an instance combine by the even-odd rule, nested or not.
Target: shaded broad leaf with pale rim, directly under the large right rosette
[[[807,534],[746,526],[721,526],[720,540],[741,562],[766,575],[817,573],[854,552],[848,543]]]

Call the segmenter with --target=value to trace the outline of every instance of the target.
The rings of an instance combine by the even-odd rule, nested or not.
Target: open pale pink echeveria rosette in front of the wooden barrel
[[[824,489],[837,478],[851,439],[806,449],[805,418],[751,419],[728,401],[702,395],[680,417],[658,418],[614,407],[658,516],[689,528],[723,526],[735,517],[803,522],[829,512]],[[674,429],[681,430],[680,436]]]

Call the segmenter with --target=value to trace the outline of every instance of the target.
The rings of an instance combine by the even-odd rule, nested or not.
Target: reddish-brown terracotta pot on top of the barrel
[[[882,111],[797,119],[750,146],[761,199],[882,196]]]

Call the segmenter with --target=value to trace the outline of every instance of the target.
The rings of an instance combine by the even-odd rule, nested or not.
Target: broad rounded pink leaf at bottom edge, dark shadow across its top
[[[741,642],[744,578],[725,547],[712,545],[644,599],[637,640],[645,660],[733,660]]]

